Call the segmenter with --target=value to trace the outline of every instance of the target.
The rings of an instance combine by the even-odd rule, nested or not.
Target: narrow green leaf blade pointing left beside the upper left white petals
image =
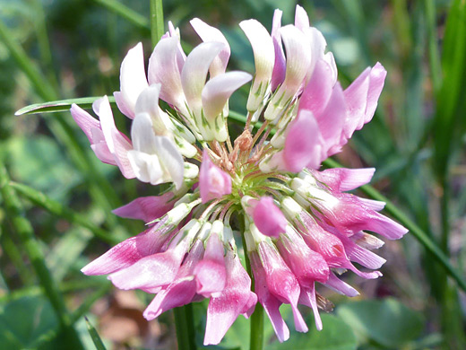
[[[101,96],[98,97],[82,97],[80,99],[68,99],[60,101],[49,101],[43,103],[34,103],[29,106],[23,107],[22,109],[17,110],[14,115],[22,116],[24,114],[34,114],[34,113],[54,113],[54,112],[63,112],[68,111],[71,108],[73,103],[80,106],[82,109],[91,109],[92,103],[99,100]],[[115,104],[115,98],[113,96],[108,96],[108,101],[111,104]]]

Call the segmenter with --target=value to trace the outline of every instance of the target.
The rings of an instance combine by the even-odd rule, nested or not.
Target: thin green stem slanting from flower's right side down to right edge
[[[330,168],[340,168],[341,164],[335,162],[332,159],[327,159],[324,161],[324,164]],[[362,186],[360,188],[367,196],[375,200],[380,200],[386,203],[385,210],[387,213],[392,214],[392,216],[399,221],[404,227],[410,230],[410,233],[427,249],[428,252],[432,253],[434,258],[444,267],[446,272],[452,276],[456,283],[466,292],[466,281],[464,280],[462,274],[452,266],[448,257],[444,254],[442,249],[440,249],[434,241],[432,241],[426,232],[422,231],[416,223],[413,223],[410,218],[401,212],[393,203],[387,198],[384,197],[379,191],[369,185]]]

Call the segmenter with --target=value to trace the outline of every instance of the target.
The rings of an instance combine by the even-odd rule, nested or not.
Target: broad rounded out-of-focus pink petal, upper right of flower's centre
[[[317,169],[324,160],[322,136],[312,113],[302,109],[291,122],[283,149],[287,171],[299,172],[306,166]]]

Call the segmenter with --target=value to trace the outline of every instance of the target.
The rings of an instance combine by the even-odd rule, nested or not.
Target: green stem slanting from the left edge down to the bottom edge
[[[34,230],[30,222],[24,216],[20,199],[16,196],[9,182],[10,178],[4,164],[0,163],[0,191],[4,199],[4,206],[8,214],[8,219],[22,241],[22,245],[30,258],[30,263],[39,277],[39,282],[44,288],[44,292],[56,312],[56,316],[64,330],[65,337],[67,337],[67,344],[70,348],[82,349],[81,340],[76,330],[71,325],[70,315],[66,311],[62,294],[45,263],[45,257],[40,249],[39,241],[36,240]]]

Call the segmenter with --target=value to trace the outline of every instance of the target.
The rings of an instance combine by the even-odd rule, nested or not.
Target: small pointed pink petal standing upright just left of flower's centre
[[[203,152],[203,162],[199,172],[199,189],[203,203],[231,193],[231,177],[211,162],[206,150]]]

